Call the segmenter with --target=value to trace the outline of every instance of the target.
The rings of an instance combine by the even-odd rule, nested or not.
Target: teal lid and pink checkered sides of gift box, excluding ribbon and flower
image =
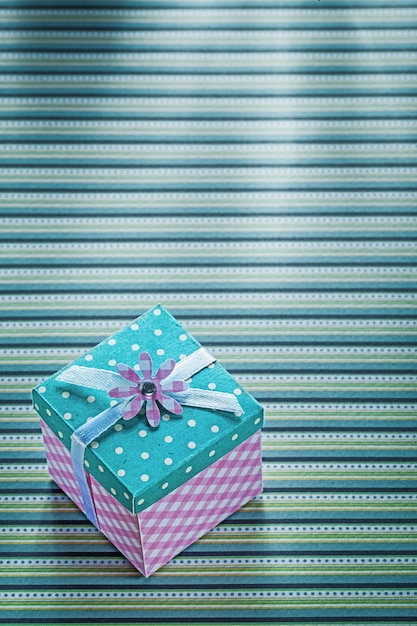
[[[124,363],[141,374],[138,355],[146,351],[155,374],[167,358],[179,363],[200,348],[158,305],[69,368],[116,373],[117,364]],[[107,391],[58,380],[65,369],[33,390],[33,403],[41,417],[49,473],[86,512],[71,437],[116,401]],[[85,449],[85,479],[98,528],[145,576],[262,491],[262,407],[217,361],[188,382],[208,397],[211,391],[233,394],[241,411],[183,405],[182,414],[175,415],[160,407],[160,424],[153,427],[144,405]]]

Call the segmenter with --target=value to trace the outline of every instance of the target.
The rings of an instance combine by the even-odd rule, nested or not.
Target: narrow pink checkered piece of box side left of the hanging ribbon
[[[60,487],[84,513],[84,504],[77,479],[74,476],[71,454],[49,426],[42,419],[40,422],[49,473],[58,487]]]

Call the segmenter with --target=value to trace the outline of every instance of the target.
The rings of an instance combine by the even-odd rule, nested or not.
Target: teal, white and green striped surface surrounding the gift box
[[[417,2],[0,0],[0,69],[0,624],[416,624]],[[145,580],[29,391],[158,302],[265,491]]]

